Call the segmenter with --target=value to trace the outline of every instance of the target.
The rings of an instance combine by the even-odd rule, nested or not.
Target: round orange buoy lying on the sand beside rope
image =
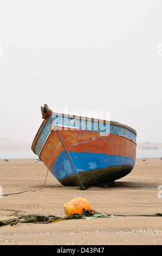
[[[82,210],[92,210],[93,214],[93,208],[89,204],[88,200],[83,197],[76,197],[72,199],[72,201],[68,204],[68,213],[69,215],[77,213],[81,214]]]

